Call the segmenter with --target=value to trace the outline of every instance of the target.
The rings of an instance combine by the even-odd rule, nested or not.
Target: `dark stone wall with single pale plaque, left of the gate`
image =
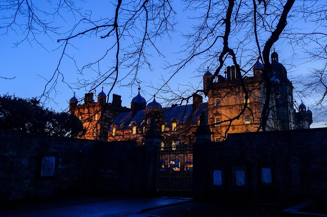
[[[142,152],[147,153],[146,147]],[[0,131],[0,202],[90,191],[135,193],[138,153],[141,149],[133,141]],[[51,166],[42,168],[43,157],[55,157],[53,176],[44,172]]]

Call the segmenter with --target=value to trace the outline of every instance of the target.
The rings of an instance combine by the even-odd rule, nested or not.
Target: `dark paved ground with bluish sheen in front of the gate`
[[[93,200],[92,200],[93,199]],[[68,197],[7,204],[0,216],[278,216],[270,205],[195,202],[187,198]]]

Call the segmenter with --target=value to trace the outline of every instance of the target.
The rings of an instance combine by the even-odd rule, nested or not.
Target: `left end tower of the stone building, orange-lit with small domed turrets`
[[[112,95],[112,102],[107,103],[107,96],[102,91],[97,95],[97,101],[93,100],[93,93],[86,93],[83,104],[77,104],[74,96],[69,100],[69,112],[77,116],[86,128],[87,132],[82,137],[85,139],[96,139],[107,141],[106,129],[109,123],[122,112],[129,112],[130,109],[122,106],[121,96]]]

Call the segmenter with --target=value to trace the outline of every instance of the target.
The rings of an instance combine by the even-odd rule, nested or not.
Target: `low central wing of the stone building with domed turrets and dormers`
[[[108,128],[108,141],[135,140],[138,146],[145,143],[151,118],[154,117],[161,135],[161,148],[193,144],[199,115],[207,111],[207,103],[197,94],[193,96],[193,104],[173,105],[163,108],[156,101],[146,104],[140,94],[130,102],[131,112],[120,113]]]

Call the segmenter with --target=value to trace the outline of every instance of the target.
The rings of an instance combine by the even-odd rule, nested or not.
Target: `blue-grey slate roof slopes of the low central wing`
[[[194,115],[192,115],[193,104],[179,105],[175,107],[163,108],[163,120],[166,126],[171,125],[171,120],[176,118],[179,120],[178,124],[196,124],[197,117],[204,111],[208,116],[208,103],[200,103]],[[191,118],[191,119],[190,119]],[[112,125],[116,125],[116,130],[128,130],[131,129],[131,123],[135,121],[141,128],[141,124],[145,121],[145,110],[138,111],[136,115],[131,118],[131,112],[120,113],[111,124],[109,124],[108,130],[111,129]]]

